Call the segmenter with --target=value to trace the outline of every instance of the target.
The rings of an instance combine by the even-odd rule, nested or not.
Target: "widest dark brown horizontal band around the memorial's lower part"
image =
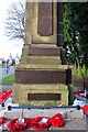
[[[20,69],[15,70],[16,84],[70,84],[68,69]]]

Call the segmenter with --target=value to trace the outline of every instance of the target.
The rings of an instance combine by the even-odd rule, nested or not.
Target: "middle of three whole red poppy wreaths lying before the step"
[[[36,117],[31,120],[31,127],[34,130],[48,130],[52,125],[52,123],[47,120],[45,123],[42,123],[41,121],[44,119],[44,117]]]

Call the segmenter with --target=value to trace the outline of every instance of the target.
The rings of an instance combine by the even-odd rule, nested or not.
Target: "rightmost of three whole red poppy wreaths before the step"
[[[52,127],[59,128],[65,124],[65,120],[61,113],[57,113],[54,117],[50,118],[48,121],[52,123]]]

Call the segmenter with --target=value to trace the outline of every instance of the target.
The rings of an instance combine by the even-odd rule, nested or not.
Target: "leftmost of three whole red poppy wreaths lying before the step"
[[[23,119],[24,121],[21,122],[19,119],[13,119],[9,122],[8,129],[11,131],[25,131],[31,128],[31,120],[28,118]]]

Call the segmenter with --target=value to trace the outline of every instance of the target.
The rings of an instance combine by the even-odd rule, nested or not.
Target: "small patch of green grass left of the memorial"
[[[3,77],[0,80],[0,85],[13,85],[14,84],[14,74]]]

